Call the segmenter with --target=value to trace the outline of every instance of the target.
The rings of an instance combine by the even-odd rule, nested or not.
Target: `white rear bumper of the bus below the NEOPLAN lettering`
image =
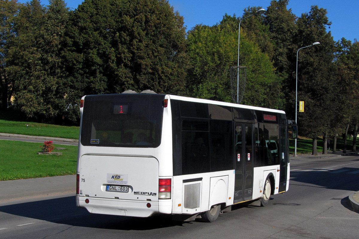
[[[85,200],[88,199],[89,203]],[[172,213],[171,201],[139,201],[139,200],[121,200],[104,199],[97,197],[83,197],[76,195],[78,207],[84,207],[91,213],[107,214],[117,216],[136,216],[146,218],[155,214]],[[150,204],[150,207],[148,207]]]

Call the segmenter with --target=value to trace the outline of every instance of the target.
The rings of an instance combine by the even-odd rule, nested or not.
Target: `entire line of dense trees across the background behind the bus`
[[[300,135],[355,136],[359,123],[359,43],[335,42],[326,9],[295,16],[289,0],[241,23],[239,65],[246,68],[241,103],[283,109],[294,119],[298,52]],[[2,0],[0,106],[33,120],[78,122],[83,95],[151,89],[157,93],[233,101],[230,67],[237,66],[238,24],[228,15],[187,33],[167,0],[64,0],[20,4]],[[326,149],[326,144],[323,145]],[[355,150],[355,141],[352,150]],[[324,150],[326,152],[326,150]]]

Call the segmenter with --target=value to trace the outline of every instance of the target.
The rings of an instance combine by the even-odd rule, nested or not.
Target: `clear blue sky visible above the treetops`
[[[19,0],[21,3],[27,0]],[[67,6],[76,9],[82,0],[65,0]],[[270,5],[270,0],[168,0],[175,11],[185,18],[187,30],[196,24],[214,25],[219,23],[223,15],[236,14],[242,16],[243,9],[248,6],[260,6],[264,9]],[[47,5],[47,0],[42,0]],[[328,19],[332,22],[330,26],[334,40],[342,37],[347,40],[359,40],[359,0],[290,0],[288,9],[300,16],[310,11],[312,5],[327,9]]]

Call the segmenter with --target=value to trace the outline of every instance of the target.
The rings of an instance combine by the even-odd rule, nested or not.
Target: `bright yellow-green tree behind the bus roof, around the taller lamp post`
[[[212,27],[196,25],[188,32],[188,55],[192,66],[188,77],[192,82],[193,96],[230,101],[229,67],[237,65],[238,23],[235,15],[225,14],[220,24]],[[283,107],[281,79],[275,75],[269,56],[248,39],[242,28],[239,59],[240,65],[247,67],[242,103],[277,109]]]

